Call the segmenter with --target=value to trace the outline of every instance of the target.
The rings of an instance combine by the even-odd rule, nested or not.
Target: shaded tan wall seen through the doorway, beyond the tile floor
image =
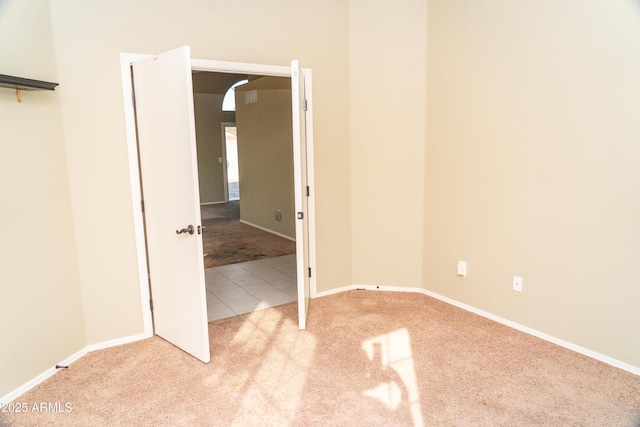
[[[245,104],[253,90],[258,102]],[[237,86],[236,126],[240,219],[295,238],[291,79],[262,77]]]

